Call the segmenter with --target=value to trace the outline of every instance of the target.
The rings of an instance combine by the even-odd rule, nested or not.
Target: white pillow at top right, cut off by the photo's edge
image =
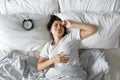
[[[61,12],[120,12],[120,0],[59,0]]]

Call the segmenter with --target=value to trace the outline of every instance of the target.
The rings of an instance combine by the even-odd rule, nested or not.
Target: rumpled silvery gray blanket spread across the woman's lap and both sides
[[[110,80],[109,77],[107,76],[108,73],[107,75],[105,74],[106,72],[108,72],[109,67],[106,67],[106,69],[103,70],[100,67],[100,65],[97,64],[98,65],[96,66],[98,67],[97,73],[96,72],[94,73],[95,69],[91,70],[87,68],[87,67],[90,67],[89,65],[93,65],[93,63],[90,62],[92,60],[88,61],[88,59],[95,58],[95,57],[89,56],[91,55],[91,53],[92,55],[97,54],[98,56],[94,60],[95,62],[96,60],[98,61],[98,63],[101,62],[102,64],[103,62],[106,62],[103,58],[101,58],[101,56],[103,56],[103,53],[101,53],[101,51],[99,50],[86,51],[86,53],[84,53],[84,55],[81,55],[80,58],[82,61],[81,63],[83,63],[82,64],[83,68],[86,70],[88,76],[86,76],[82,68],[80,67],[73,68],[71,66],[68,66],[64,68],[55,68],[61,71],[61,74],[57,75],[54,78],[46,79],[45,78],[46,72],[50,69],[47,69],[44,71],[37,71],[37,68],[36,68],[37,59],[36,58],[27,56],[25,54],[21,54],[17,51],[11,51],[2,60],[0,60],[0,80]],[[107,62],[104,64],[103,68],[105,66],[108,66]],[[92,76],[91,79],[89,77],[89,74],[91,74],[90,76]]]

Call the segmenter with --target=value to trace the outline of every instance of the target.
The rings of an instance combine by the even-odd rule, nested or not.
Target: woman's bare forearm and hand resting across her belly
[[[66,56],[68,56],[68,54],[61,52],[51,59],[40,57],[37,62],[37,70],[44,70],[54,63],[67,63],[69,58]]]

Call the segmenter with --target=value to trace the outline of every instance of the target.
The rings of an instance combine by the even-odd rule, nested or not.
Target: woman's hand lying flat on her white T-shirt
[[[68,54],[61,52],[57,54],[55,57],[51,58],[53,63],[67,63],[69,61]]]

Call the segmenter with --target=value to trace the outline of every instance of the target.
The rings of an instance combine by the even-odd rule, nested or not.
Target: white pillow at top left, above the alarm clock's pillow
[[[59,12],[58,0],[0,0],[2,14]]]

